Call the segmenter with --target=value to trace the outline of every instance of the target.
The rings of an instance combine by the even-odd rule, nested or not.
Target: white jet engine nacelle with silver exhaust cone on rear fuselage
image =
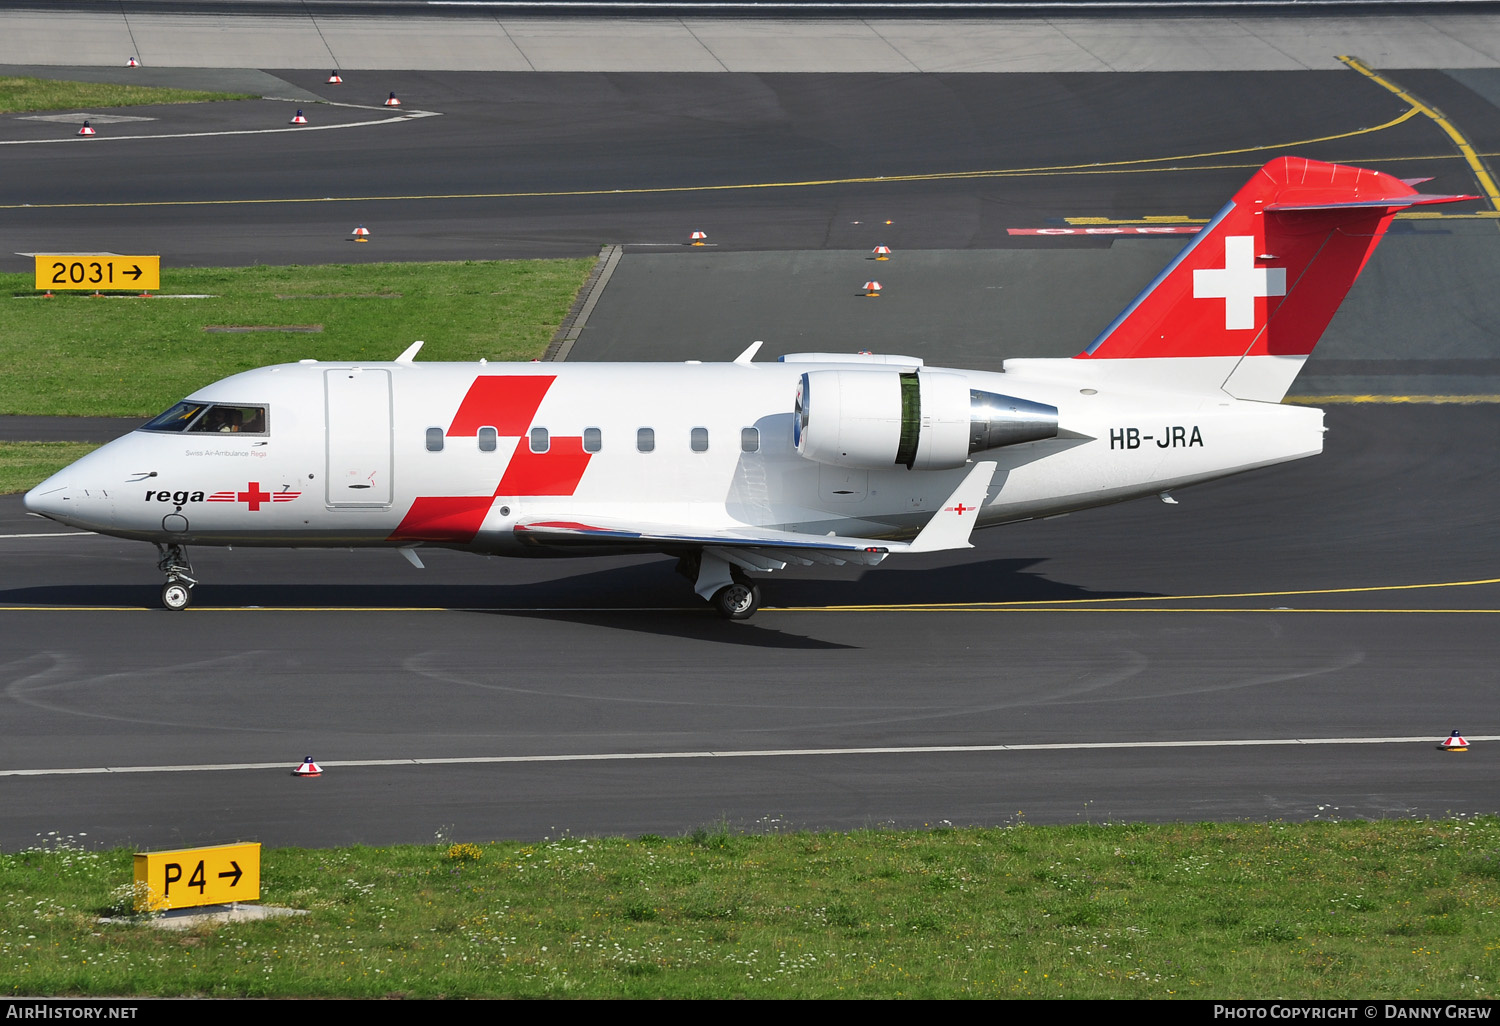
[[[796,452],[819,464],[952,470],[972,453],[1058,436],[1058,408],[969,387],[951,370],[808,370]]]

